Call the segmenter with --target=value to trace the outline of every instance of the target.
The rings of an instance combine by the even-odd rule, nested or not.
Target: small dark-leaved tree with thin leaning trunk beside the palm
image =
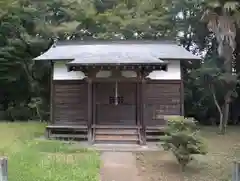
[[[219,113],[219,131],[226,127],[224,122],[224,103],[227,92],[235,89],[238,83],[237,75],[225,72],[223,66],[219,66],[218,59],[206,60],[202,66],[191,73],[196,85],[204,89],[206,93],[203,96],[210,98]],[[235,94],[233,94],[235,93]],[[232,91],[231,96],[236,96],[236,92]]]

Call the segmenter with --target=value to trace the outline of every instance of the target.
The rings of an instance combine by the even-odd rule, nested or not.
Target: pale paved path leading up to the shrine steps
[[[103,152],[101,181],[142,181],[131,152]]]

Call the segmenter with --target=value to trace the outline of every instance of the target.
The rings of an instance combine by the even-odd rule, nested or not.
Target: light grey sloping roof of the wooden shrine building
[[[169,41],[68,41],[51,47],[35,60],[73,60],[78,64],[161,63],[161,60],[200,60]]]

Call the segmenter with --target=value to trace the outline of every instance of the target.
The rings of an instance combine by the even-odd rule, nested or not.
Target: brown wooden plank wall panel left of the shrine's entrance
[[[87,88],[85,81],[53,81],[54,124],[87,125]]]

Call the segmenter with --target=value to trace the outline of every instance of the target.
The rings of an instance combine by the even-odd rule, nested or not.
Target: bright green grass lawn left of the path
[[[9,181],[98,181],[98,153],[60,141],[36,139],[41,123],[0,123],[0,156],[9,161]]]

